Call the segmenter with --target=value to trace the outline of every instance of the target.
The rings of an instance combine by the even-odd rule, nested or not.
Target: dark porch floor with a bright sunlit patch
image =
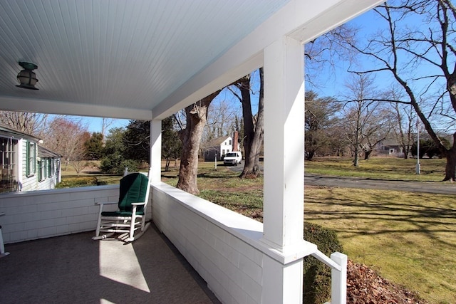
[[[6,244],[0,303],[219,303],[153,224],[133,243],[93,234]]]

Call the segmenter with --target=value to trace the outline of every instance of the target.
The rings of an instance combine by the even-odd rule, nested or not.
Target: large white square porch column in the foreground
[[[264,260],[263,303],[302,303],[304,65],[300,41],[264,50],[264,242],[286,256]]]

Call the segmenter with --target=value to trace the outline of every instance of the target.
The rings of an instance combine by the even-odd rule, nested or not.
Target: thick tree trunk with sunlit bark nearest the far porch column
[[[185,108],[187,125],[179,132],[182,156],[176,187],[190,194],[199,194],[197,187],[199,143],[207,120],[207,108],[219,93],[220,90]]]

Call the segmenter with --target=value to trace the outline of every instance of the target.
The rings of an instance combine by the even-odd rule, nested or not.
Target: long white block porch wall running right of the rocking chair
[[[152,184],[152,210],[158,229],[222,303],[270,303],[261,298],[264,264],[281,269],[317,251],[303,241],[299,253],[286,256],[264,242],[259,221],[164,183]]]

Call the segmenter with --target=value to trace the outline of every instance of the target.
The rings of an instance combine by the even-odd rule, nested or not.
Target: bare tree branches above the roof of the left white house
[[[1,124],[38,138],[46,133],[47,120],[47,114],[0,111]]]

